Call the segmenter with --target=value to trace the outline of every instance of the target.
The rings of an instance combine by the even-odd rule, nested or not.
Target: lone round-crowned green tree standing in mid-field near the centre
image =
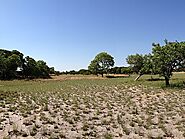
[[[94,74],[108,73],[108,70],[114,66],[114,58],[106,52],[101,52],[91,61],[88,69]]]

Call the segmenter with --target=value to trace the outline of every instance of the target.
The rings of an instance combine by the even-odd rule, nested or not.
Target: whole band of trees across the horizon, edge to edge
[[[159,74],[164,77],[166,86],[170,85],[170,78],[174,71],[185,70],[185,42],[168,42],[164,45],[152,44],[149,54],[133,54],[126,58],[129,67],[114,67],[114,57],[101,52],[90,62],[88,69],[66,72],[55,71],[48,67],[43,60],[34,60],[17,51],[0,49],[0,79],[15,78],[50,78],[50,74],[138,74],[138,80],[144,74]]]

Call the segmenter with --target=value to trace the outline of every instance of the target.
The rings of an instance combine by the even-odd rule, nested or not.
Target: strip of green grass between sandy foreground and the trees
[[[14,81],[0,81],[0,91],[17,91],[17,92],[57,92],[57,91],[70,91],[71,86],[88,86],[88,85],[126,85],[126,86],[135,86],[142,85],[147,87],[157,87],[161,88],[165,86],[165,82],[162,77],[158,75],[143,75],[138,81],[134,81],[134,78],[137,75],[132,75],[129,78],[114,78],[114,79],[104,79],[104,80],[89,80],[89,79],[81,79],[81,80],[66,80],[66,81],[39,81],[39,80],[14,80]],[[150,79],[160,79],[156,81],[149,81]],[[174,73],[170,83],[171,87],[174,88],[182,88],[184,87],[185,82],[185,73]]]

